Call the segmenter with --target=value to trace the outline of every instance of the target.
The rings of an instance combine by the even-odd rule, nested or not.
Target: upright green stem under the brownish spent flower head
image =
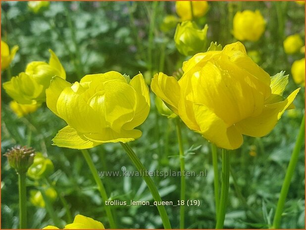
[[[18,173],[19,186],[19,227],[27,229],[27,190],[26,172]]]

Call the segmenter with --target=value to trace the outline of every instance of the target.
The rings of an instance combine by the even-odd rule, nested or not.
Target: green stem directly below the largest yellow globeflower
[[[222,184],[216,229],[223,229],[229,189],[229,150],[222,149]]]

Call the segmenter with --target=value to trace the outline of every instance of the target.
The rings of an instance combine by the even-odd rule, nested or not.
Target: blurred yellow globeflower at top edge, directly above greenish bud
[[[207,1],[176,1],[176,13],[181,17],[182,21],[192,20],[191,3],[193,15],[196,18],[204,16],[208,10]]]

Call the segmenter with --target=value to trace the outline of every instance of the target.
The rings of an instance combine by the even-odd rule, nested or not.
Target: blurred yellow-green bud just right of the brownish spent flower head
[[[34,162],[28,169],[28,177],[39,180],[49,177],[54,171],[53,163],[50,159],[43,156],[41,152],[37,152],[34,157]]]

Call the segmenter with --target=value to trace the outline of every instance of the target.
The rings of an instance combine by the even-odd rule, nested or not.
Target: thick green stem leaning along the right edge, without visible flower
[[[291,179],[293,177],[293,173],[295,171],[298,159],[299,159],[299,154],[303,145],[305,139],[305,114],[303,116],[302,119],[302,123],[301,123],[301,127],[300,127],[300,132],[296,141],[296,145],[293,149],[292,155],[291,155],[291,159],[287,168],[287,172],[286,172],[286,176],[283,182],[283,186],[281,189],[281,193],[277,202],[277,207],[276,207],[276,211],[275,211],[275,216],[274,216],[274,220],[273,220],[273,225],[271,227],[271,229],[279,229],[280,228],[280,224],[281,224],[281,217],[282,217],[282,213],[284,210],[284,206],[285,206],[285,201],[286,201],[286,197],[288,194],[288,190],[289,190],[289,186],[290,186],[290,182]]]

